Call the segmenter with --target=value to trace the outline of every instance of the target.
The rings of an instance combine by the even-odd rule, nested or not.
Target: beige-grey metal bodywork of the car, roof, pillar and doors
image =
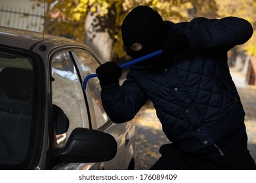
[[[91,128],[98,131],[104,131],[116,139],[117,154],[114,159],[106,162],[98,163],[56,163],[54,167],[49,167],[49,136],[51,136],[51,125],[49,119],[51,118],[51,59],[56,53],[62,50],[69,52],[73,57],[74,62],[78,65],[75,55],[72,50],[83,50],[91,54],[96,61],[100,62],[96,54],[88,46],[70,39],[56,37],[53,35],[43,35],[43,33],[35,33],[32,31],[24,31],[21,29],[12,29],[7,27],[0,27],[0,49],[5,48],[17,50],[18,52],[28,52],[33,54],[42,61],[43,67],[41,73],[44,73],[41,82],[43,94],[43,136],[41,137],[40,158],[37,165],[33,169],[127,169],[131,162],[135,161],[135,122],[132,120],[124,124],[114,124],[109,121],[105,125],[98,128],[96,125],[96,114],[93,109],[93,100],[90,95],[90,89],[85,90],[87,96],[87,107],[90,114]],[[78,66],[77,66],[78,67]],[[78,67],[79,70],[79,67]],[[79,70],[79,75],[83,73]],[[81,84],[82,81],[80,80]],[[51,138],[50,138],[51,139]],[[134,162],[133,162],[134,163]]]

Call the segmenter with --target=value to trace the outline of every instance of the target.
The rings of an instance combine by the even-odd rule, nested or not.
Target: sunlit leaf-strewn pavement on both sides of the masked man
[[[243,73],[232,69],[230,73],[244,106],[248,149],[256,162],[256,86],[247,85]],[[147,103],[142,107],[135,116],[135,120],[137,121],[135,169],[146,170],[160,158],[160,146],[169,141],[161,130],[161,124],[156,117],[152,103]]]

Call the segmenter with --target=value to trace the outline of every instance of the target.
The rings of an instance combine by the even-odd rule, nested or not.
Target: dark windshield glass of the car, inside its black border
[[[0,167],[22,169],[33,152],[33,73],[32,58],[0,51]]]

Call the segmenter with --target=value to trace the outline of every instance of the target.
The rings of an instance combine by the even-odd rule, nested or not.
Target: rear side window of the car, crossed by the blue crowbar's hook
[[[81,69],[83,70],[83,78],[85,76],[94,74],[96,68],[99,66],[96,59],[89,54],[88,52],[83,52],[80,50],[75,50],[75,56],[81,64]],[[95,108],[95,116],[96,116],[96,125],[97,128],[108,122],[108,116],[104,108],[102,107],[102,102],[100,98],[100,83],[98,78],[91,78],[87,82],[87,88],[89,88],[91,97],[93,99],[93,107]]]

